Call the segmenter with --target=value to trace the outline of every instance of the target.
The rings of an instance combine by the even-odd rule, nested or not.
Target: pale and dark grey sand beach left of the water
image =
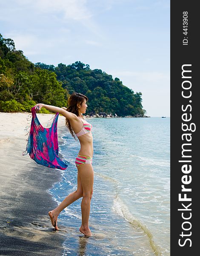
[[[47,127],[52,114],[37,116]],[[28,138],[24,129],[30,122],[30,113],[0,113],[0,255],[62,255],[70,230],[54,230],[48,211],[57,203],[47,192],[61,175],[22,155]],[[64,116],[58,117],[57,128],[60,144],[67,129]]]

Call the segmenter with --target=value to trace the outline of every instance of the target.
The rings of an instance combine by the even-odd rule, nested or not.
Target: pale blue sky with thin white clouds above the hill
[[[169,0],[0,1],[0,33],[32,61],[81,61],[142,92],[148,116],[170,116]]]

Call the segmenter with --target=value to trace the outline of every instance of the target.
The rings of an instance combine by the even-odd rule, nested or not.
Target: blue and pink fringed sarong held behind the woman
[[[26,145],[26,155],[29,153],[31,159],[36,163],[64,170],[67,164],[58,157],[58,137],[57,137],[57,120],[59,113],[54,115],[50,128],[44,128],[36,115],[35,107],[31,108],[32,119],[29,132],[28,143]]]

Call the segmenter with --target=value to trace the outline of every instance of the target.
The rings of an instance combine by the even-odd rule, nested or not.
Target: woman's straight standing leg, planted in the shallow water
[[[93,193],[94,170],[91,164],[81,164],[77,167],[83,187],[83,199],[81,202],[82,224],[80,232],[85,236],[92,236],[89,229],[90,203]]]

